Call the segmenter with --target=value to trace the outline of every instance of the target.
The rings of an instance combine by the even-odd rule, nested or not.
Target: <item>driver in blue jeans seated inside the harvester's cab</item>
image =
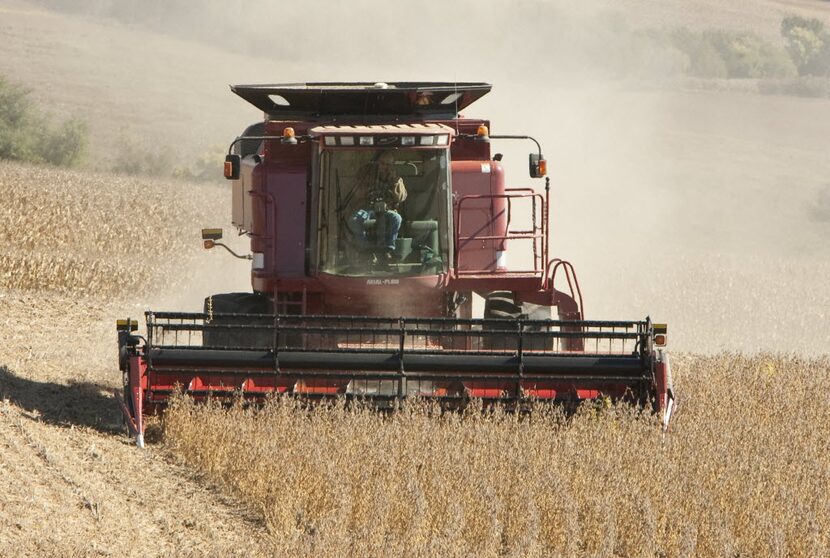
[[[395,242],[403,221],[399,209],[407,193],[403,178],[395,173],[394,152],[382,151],[362,174],[359,188],[365,197],[349,219],[349,231],[362,252],[371,254],[378,263],[395,263]],[[371,220],[373,235],[367,230]]]

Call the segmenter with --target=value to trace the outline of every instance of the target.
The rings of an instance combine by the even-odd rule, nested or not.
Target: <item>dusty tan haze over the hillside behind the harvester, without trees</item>
[[[0,73],[89,122],[93,169],[125,145],[221,150],[261,118],[231,83],[490,82],[467,115],[542,143],[553,255],[576,266],[588,318],[650,314],[683,350],[827,352],[830,100],[695,79],[661,34],[781,48],[789,14],[830,23],[830,4],[3,1]],[[541,186],[530,147],[494,145],[511,186]],[[194,231],[229,214],[230,196]],[[248,284],[244,263],[204,262],[189,304]]]

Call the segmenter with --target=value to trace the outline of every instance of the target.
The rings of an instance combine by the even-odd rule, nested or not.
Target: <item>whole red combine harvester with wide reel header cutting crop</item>
[[[379,406],[610,397],[652,405],[668,424],[666,326],[584,319],[573,267],[549,254],[549,179],[541,192],[508,188],[491,153],[494,141],[530,140],[530,176],[542,178],[539,143],[459,114],[490,89],[231,88],[265,113],[225,162],[253,292],[209,297],[201,313],[148,311],[146,337],[119,321],[119,402],[139,445],[144,416],[176,389]],[[221,229],[202,236],[233,253]],[[508,266],[508,253],[525,265]],[[474,293],[483,318],[473,318]]]

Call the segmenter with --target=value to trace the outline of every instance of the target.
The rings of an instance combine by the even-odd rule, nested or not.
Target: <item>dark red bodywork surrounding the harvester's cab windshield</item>
[[[413,122],[416,123],[416,122]],[[457,134],[474,135],[489,121],[479,119],[419,121],[443,124]],[[338,122],[338,125],[347,125]],[[286,127],[297,135],[305,134],[319,122],[268,121],[266,134],[280,136]],[[457,269],[446,277],[400,278],[392,281],[367,281],[365,278],[309,275],[308,256],[314,246],[307,242],[310,208],[308,185],[311,181],[312,142],[286,145],[279,140],[263,142],[262,161],[253,169],[243,166],[243,181],[251,184],[249,199],[240,201],[240,188],[234,189],[234,204],[241,207],[234,215],[250,214],[251,250],[264,254],[264,267],[252,271],[254,291],[272,295],[279,292],[317,293],[315,313],[364,314],[392,309],[415,312],[416,316],[441,315],[436,308],[447,291],[487,292],[510,290],[536,292],[543,289],[543,270],[505,273],[497,267],[497,253],[506,251],[508,241],[505,176],[501,163],[490,159],[490,144],[479,141],[455,141],[450,146],[452,161],[453,242]],[[246,161],[247,163],[247,161]],[[491,196],[491,197],[480,197]],[[478,198],[476,198],[478,197]],[[459,240],[459,237],[463,240]],[[311,249],[311,250],[309,250]],[[458,272],[466,274],[455,283]],[[414,289],[414,290],[413,290]],[[383,301],[378,304],[378,295]],[[299,295],[298,295],[299,296]],[[368,304],[372,301],[372,305]],[[409,302],[406,302],[409,301]],[[373,308],[379,307],[379,308]],[[311,311],[305,306],[303,311]]]

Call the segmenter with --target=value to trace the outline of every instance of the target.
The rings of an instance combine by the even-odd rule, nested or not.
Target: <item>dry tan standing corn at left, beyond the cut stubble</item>
[[[175,181],[3,164],[0,184],[3,289],[145,293],[199,250],[198,223],[224,215],[221,190],[196,205]]]

